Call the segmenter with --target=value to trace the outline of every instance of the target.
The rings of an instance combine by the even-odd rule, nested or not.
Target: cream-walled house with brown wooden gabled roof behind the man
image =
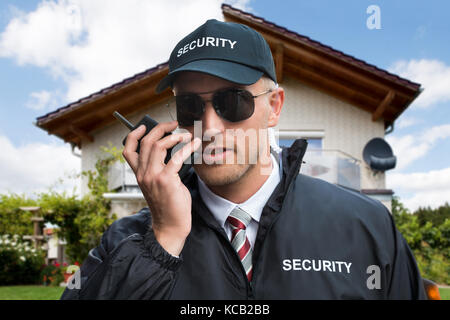
[[[351,188],[391,206],[392,190],[385,173],[374,171],[363,160],[364,146],[384,138],[395,120],[420,94],[420,84],[391,74],[365,61],[337,51],[304,35],[222,5],[225,21],[246,24],[269,43],[277,78],[286,101],[275,132],[280,145],[303,137],[309,141],[301,173]],[[128,133],[112,116],[120,112],[132,123],[145,114],[159,122],[170,121],[167,108],[171,91],[155,93],[167,74],[168,63],[115,83],[67,106],[37,118],[37,126],[82,150],[82,170],[94,168],[100,146],[121,147]],[[111,170],[106,194],[112,210],[123,216],[146,206],[134,175],[127,165]],[[87,192],[86,181],[82,192]]]

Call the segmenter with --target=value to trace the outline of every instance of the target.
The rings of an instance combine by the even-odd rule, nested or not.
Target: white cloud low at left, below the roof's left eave
[[[30,143],[16,147],[0,136],[0,193],[42,192],[54,187],[55,191],[72,191],[79,179],[66,179],[81,169],[80,159],[72,155],[70,146]],[[64,183],[57,184],[59,179]]]

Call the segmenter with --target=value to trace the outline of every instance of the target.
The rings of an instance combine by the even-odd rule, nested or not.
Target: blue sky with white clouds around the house
[[[0,193],[77,192],[80,159],[36,118],[167,61],[188,32],[222,19],[222,2],[0,1]],[[397,156],[386,187],[410,210],[450,202],[449,1],[226,3],[420,83],[386,136]],[[368,28],[371,5],[379,28]]]

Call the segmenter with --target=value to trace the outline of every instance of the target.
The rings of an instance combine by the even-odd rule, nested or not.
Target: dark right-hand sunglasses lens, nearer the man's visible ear
[[[214,95],[213,104],[216,112],[230,122],[246,120],[255,110],[252,94],[240,89],[217,92]]]

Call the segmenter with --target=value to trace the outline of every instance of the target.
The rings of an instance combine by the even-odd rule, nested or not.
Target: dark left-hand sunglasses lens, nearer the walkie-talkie
[[[203,100],[195,94],[176,96],[177,121],[180,125],[188,127],[194,125],[204,112]]]

